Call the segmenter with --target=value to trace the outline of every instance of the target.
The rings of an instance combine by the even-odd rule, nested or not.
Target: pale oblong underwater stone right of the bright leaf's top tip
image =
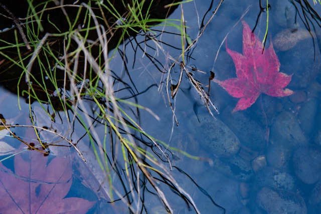
[[[287,51],[296,46],[299,41],[312,39],[310,33],[303,28],[288,28],[277,33],[273,39],[273,47]]]

